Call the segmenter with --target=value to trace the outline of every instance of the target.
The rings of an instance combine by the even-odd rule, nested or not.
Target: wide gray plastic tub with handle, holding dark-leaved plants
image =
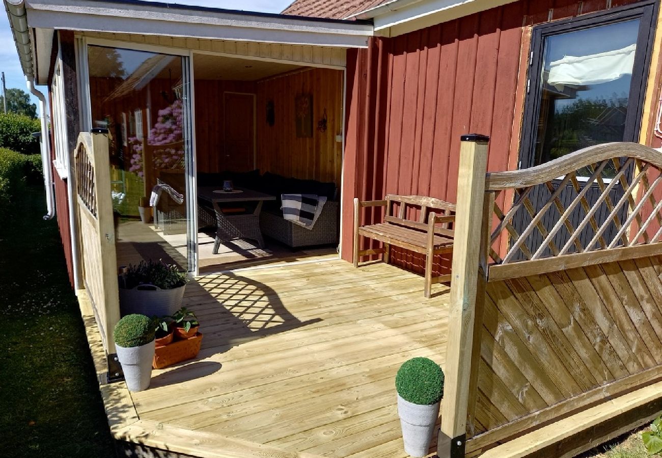
[[[122,316],[138,313],[146,316],[167,316],[181,308],[186,285],[174,289],[160,289],[154,285],[138,285],[134,289],[120,288]]]

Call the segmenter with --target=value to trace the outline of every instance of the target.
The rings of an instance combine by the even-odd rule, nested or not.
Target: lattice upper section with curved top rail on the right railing
[[[616,152],[619,145],[636,144],[573,153],[576,167],[561,158],[557,161],[564,163],[556,167],[488,175],[486,192],[495,193],[489,261],[504,264],[661,241],[662,154],[636,145],[645,154],[604,157],[602,150]],[[591,153],[603,158],[587,163]],[[554,177],[561,169],[563,174]]]

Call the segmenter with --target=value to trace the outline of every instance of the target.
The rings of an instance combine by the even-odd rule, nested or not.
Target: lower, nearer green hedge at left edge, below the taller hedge
[[[39,154],[21,154],[0,148],[0,207],[6,207],[26,185],[38,184],[42,177]]]

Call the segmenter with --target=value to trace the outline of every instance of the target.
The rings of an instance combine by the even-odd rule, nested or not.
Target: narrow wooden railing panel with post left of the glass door
[[[81,132],[74,161],[83,283],[110,354],[120,314],[107,135]]]

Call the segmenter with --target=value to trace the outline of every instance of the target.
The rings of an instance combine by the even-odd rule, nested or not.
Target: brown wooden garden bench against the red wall
[[[385,207],[384,222],[359,225],[361,208]],[[397,216],[394,215],[397,206]],[[408,214],[418,209],[418,220],[408,219]],[[435,212],[434,210],[438,210]],[[430,297],[433,283],[448,283],[450,275],[432,277],[434,255],[453,252],[453,222],[455,205],[425,196],[401,196],[389,194],[383,201],[359,201],[354,199],[354,267],[359,265],[359,257],[383,255],[389,262],[391,246],[426,255],[425,297]],[[359,236],[383,242],[383,248],[359,250]]]

